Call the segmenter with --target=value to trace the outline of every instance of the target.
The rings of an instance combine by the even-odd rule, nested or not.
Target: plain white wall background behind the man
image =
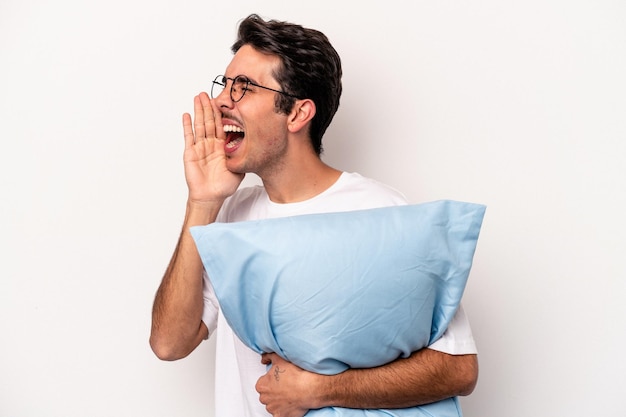
[[[0,416],[211,415],[211,342],[160,362],[150,309],[184,213],[181,114],[251,12],[341,54],[326,161],[488,206],[465,415],[623,415],[625,3],[258,4],[0,0]]]

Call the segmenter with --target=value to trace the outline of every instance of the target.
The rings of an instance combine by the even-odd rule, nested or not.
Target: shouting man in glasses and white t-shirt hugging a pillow
[[[219,311],[189,228],[215,221],[406,204],[397,191],[321,159],[341,95],[341,62],[322,33],[251,15],[224,76],[183,115],[189,189],[183,230],[157,291],[150,344],[164,360],[217,333],[216,416],[301,417],[326,406],[401,408],[472,392],[476,350],[462,309],[429,348],[373,369],[323,376],[275,354],[259,356]],[[238,190],[246,173],[263,186]],[[232,248],[236,262],[237,248]],[[266,364],[272,371],[266,373]]]

